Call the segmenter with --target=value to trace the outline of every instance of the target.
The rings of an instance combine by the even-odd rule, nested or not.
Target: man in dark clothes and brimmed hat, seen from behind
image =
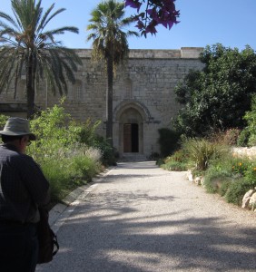
[[[26,147],[35,140],[29,121],[12,117],[0,145],[0,271],[34,272],[39,206],[49,202],[49,183]]]

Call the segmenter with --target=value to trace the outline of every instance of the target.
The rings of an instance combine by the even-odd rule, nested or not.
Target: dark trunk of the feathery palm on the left
[[[34,62],[31,51],[28,53],[26,66],[26,101],[27,119],[32,119],[34,115]]]

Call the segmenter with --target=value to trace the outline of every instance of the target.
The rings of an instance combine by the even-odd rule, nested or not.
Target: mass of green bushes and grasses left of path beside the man
[[[51,184],[53,201],[90,182],[103,170],[102,151],[95,130],[99,122],[74,121],[62,105],[54,105],[30,121],[37,136],[27,153],[42,167]],[[102,142],[102,149],[106,144]]]

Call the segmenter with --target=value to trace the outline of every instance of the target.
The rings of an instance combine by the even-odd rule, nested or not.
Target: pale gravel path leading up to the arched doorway
[[[36,271],[256,271],[256,213],[185,172],[120,163],[93,188],[56,223],[61,249]]]

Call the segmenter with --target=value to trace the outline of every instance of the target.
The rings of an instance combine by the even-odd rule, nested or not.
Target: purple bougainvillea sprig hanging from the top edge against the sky
[[[171,29],[173,24],[178,24],[177,17],[180,11],[175,9],[175,0],[124,0],[125,6],[137,9],[137,15],[133,15],[136,27],[146,37],[147,34],[156,34],[156,26],[162,24]],[[145,4],[144,12],[139,13]]]

